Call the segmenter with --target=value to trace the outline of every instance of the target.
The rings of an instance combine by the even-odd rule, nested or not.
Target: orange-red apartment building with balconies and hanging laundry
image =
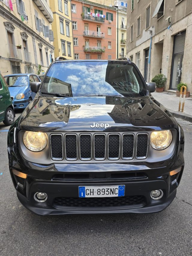
[[[115,8],[71,0],[75,59],[116,59]]]

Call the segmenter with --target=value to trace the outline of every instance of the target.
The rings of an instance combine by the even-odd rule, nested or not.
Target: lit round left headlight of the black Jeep
[[[23,135],[23,143],[31,151],[41,151],[47,145],[47,135],[44,132],[26,131]]]

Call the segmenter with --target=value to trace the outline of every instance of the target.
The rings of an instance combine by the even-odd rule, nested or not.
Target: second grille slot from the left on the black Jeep
[[[77,135],[65,134],[65,158],[77,160]]]

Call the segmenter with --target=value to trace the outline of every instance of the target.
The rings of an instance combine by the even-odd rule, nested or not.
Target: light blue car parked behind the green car
[[[9,87],[14,109],[26,108],[36,93],[31,91],[31,82],[41,82],[35,74],[11,74],[4,76]]]

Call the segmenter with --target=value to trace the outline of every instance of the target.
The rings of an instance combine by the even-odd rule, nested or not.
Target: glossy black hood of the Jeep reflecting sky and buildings
[[[94,127],[96,124],[107,124]],[[173,116],[152,96],[140,98],[36,96],[20,118],[28,131],[150,131],[176,128]]]

